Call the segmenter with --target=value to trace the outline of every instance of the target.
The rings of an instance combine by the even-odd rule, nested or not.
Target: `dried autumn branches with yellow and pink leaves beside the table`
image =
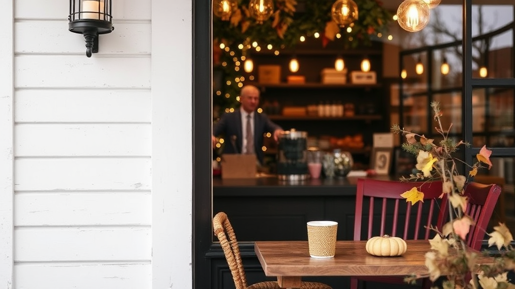
[[[510,245],[513,241],[512,234],[505,224],[500,223],[494,227],[494,231],[489,233],[488,245],[495,245],[501,251],[501,256],[495,258],[491,265],[481,265],[479,273],[476,268],[478,254],[469,250],[466,245],[466,236],[469,233],[472,218],[466,212],[467,197],[464,196],[467,182],[473,178],[478,170],[490,169],[491,151],[485,146],[476,155],[477,161],[473,165],[466,164],[454,155],[461,146],[468,146],[464,141],[455,141],[449,137],[448,129],[444,129],[441,123],[442,112],[438,102],[432,102],[436,130],[441,136],[441,140],[436,143],[434,139],[426,138],[413,132],[405,131],[399,125],[393,125],[393,133],[402,134],[406,141],[402,148],[417,156],[417,171],[409,177],[401,177],[401,182],[410,180],[442,180],[442,196],[447,195],[450,203],[450,221],[442,228],[432,227],[436,235],[429,242],[431,251],[425,255],[425,263],[428,268],[427,276],[414,276],[406,278],[407,282],[414,282],[421,277],[429,277],[431,281],[442,279],[440,286],[444,289],[451,288],[483,288],[501,289],[515,288],[515,285],[508,280],[507,273],[515,269],[515,250]],[[469,168],[468,175],[458,172],[457,165],[463,164]],[[406,198],[406,202],[414,205],[423,202],[423,192],[419,188],[406,191],[401,194]],[[455,250],[456,254],[449,254]],[[442,277],[442,272],[446,276]],[[436,284],[436,283],[434,283]],[[436,285],[435,285],[436,286]]]

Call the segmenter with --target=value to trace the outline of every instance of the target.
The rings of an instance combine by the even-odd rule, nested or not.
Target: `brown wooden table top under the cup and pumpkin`
[[[365,249],[367,241],[337,241],[334,258],[310,257],[307,241],[256,241],[254,251],[266,276],[407,276],[427,274],[427,240],[407,240],[399,257],[376,257]],[[485,257],[485,263],[490,263]],[[482,258],[483,259],[483,258]],[[490,261],[490,262],[488,262]]]

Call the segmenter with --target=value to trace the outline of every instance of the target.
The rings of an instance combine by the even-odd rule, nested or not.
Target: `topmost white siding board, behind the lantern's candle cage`
[[[63,0],[16,0],[14,17],[17,19],[67,19],[70,14],[69,1]],[[149,20],[150,1],[113,1],[113,22],[121,20]],[[67,30],[67,28],[66,28]]]

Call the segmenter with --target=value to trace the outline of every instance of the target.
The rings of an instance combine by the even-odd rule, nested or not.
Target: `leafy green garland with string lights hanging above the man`
[[[252,42],[261,46],[271,44],[274,50],[280,50],[294,47],[301,36],[311,37],[315,32],[322,34],[322,43],[331,41],[332,35],[324,32],[332,21],[331,7],[334,2],[275,0],[276,12],[263,24],[258,24],[249,16],[249,0],[238,0],[238,9],[230,21],[213,16],[213,68],[215,75],[221,74],[222,79],[218,83],[219,89],[214,91],[214,106],[219,107],[220,112],[236,106],[236,97],[242,85],[240,80],[244,75],[242,56],[246,57],[248,49],[253,49],[250,46]],[[354,22],[351,32],[344,29],[339,31],[343,35],[345,48],[370,45],[371,39],[377,37],[378,33],[386,32],[392,21],[392,14],[383,8],[379,0],[354,2],[358,6],[358,20]],[[332,32],[337,32],[334,30],[333,25]],[[220,44],[228,49],[221,49]],[[243,45],[243,48],[238,48],[239,45]]]

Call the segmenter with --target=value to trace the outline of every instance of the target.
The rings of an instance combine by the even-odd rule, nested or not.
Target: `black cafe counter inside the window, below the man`
[[[313,220],[338,222],[340,240],[352,240],[357,179],[214,178],[213,212],[227,213],[239,242],[307,240]]]

